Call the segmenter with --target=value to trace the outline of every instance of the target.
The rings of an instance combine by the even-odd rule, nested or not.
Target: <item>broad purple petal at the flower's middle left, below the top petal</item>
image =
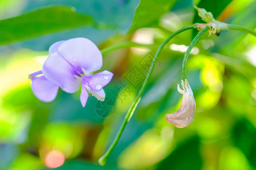
[[[79,90],[80,75],[58,53],[49,55],[43,64],[42,71],[49,81],[59,85],[63,91],[73,93]]]

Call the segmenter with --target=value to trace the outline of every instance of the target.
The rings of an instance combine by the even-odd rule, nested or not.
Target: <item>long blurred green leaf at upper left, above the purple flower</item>
[[[78,14],[71,7],[41,8],[14,18],[0,20],[0,45],[93,24],[90,16]]]

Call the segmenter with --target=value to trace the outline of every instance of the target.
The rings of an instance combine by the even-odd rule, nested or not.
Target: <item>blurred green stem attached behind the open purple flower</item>
[[[141,48],[150,48],[154,45],[151,44],[139,44],[136,42],[131,42],[131,41],[127,41],[127,42],[121,42],[120,44],[115,44],[112,46],[108,46],[107,48],[104,48],[101,50],[101,54],[104,55],[112,50],[115,49],[119,49],[119,48],[126,48],[126,47],[141,47]]]

